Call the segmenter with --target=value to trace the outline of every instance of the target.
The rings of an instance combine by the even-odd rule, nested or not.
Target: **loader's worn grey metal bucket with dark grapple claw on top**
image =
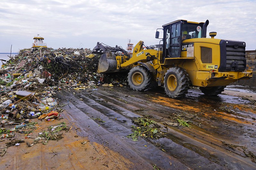
[[[116,56],[119,53],[124,53],[129,56],[128,52],[124,49],[116,46],[104,46],[102,43],[97,42],[97,45],[93,48],[92,54],[100,54],[100,60],[98,64],[98,73],[113,73],[120,70],[117,70],[117,61]]]

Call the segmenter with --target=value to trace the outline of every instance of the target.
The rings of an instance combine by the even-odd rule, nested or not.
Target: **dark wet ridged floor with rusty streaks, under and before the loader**
[[[129,159],[132,169],[256,169],[256,107],[245,98],[209,97],[191,89],[185,98],[171,99],[163,88],[137,92],[127,87],[63,89],[58,95],[78,134]],[[142,115],[153,116],[166,137],[127,138],[132,119]],[[164,125],[173,115],[192,127]]]

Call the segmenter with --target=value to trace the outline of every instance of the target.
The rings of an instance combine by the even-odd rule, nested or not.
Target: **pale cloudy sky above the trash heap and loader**
[[[256,48],[255,0],[1,0],[0,52],[30,48],[39,34],[52,48],[93,48],[103,42],[126,48],[159,44],[155,31],[169,22],[210,21],[215,38],[246,42]]]

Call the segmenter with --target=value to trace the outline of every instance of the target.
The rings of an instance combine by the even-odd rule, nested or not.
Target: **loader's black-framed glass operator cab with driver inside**
[[[186,20],[177,20],[163,25],[163,60],[169,57],[180,57],[182,43],[184,40],[192,38],[202,38],[204,23],[190,22]],[[205,34],[206,34],[205,26]],[[156,33],[156,38],[159,32]],[[205,36],[206,37],[206,36]]]

